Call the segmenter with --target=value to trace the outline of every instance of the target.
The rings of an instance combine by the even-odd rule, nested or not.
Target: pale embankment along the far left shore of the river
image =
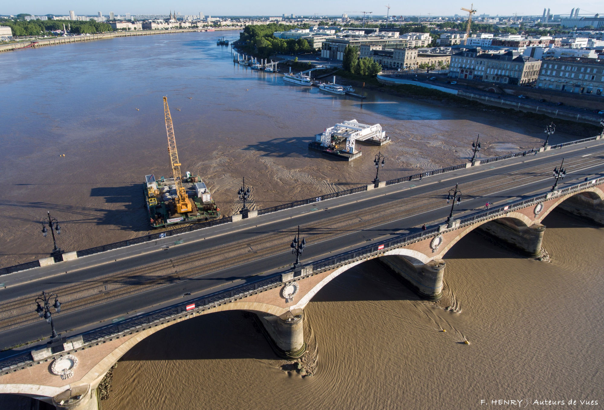
[[[241,27],[219,27],[214,28],[212,31],[234,31],[242,30]],[[0,53],[2,51],[15,51],[24,48],[37,48],[44,47],[47,45],[60,45],[69,44],[85,41],[97,41],[104,39],[113,39],[116,37],[140,37],[140,36],[151,36],[153,34],[175,34],[175,33],[202,33],[208,31],[205,28],[179,28],[176,30],[140,30],[140,31],[113,31],[111,33],[100,33],[100,34],[82,34],[81,36],[68,36],[68,37],[52,37],[47,39],[35,39],[30,41],[22,41],[11,44],[0,45]]]

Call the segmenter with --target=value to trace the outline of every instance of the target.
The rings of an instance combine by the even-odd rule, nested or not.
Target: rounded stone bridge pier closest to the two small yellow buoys
[[[422,298],[430,301],[442,298],[445,273],[445,261],[442,259],[434,259],[427,264],[413,264],[402,256],[387,255],[378,260],[400,275]]]

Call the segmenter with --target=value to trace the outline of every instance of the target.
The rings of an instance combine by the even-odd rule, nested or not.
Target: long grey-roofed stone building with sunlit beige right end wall
[[[451,56],[449,77],[522,85],[535,82],[540,67],[540,60],[522,56],[518,51],[489,54],[472,48]]]

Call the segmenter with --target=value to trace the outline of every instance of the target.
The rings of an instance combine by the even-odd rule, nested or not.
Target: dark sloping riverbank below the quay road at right
[[[483,100],[471,99],[470,97],[466,98],[465,96],[445,93],[439,89],[425,88],[413,84],[384,84],[379,82],[377,78],[359,76],[358,74],[352,74],[345,70],[339,70],[335,73],[335,75],[346,79],[350,85],[358,88],[361,88],[363,83],[365,83],[365,91],[371,90],[391,96],[420,100],[443,108],[454,105],[457,108],[475,109],[483,112],[498,114],[510,120],[521,120],[527,123],[543,123],[544,125],[552,120],[552,117],[547,116],[546,114],[518,111],[517,109],[513,108],[494,106],[484,103]],[[592,123],[577,122],[576,120],[560,118],[556,118],[555,120],[557,130],[567,132],[568,134],[577,135],[577,139],[588,138],[599,134],[601,131],[600,127]]]

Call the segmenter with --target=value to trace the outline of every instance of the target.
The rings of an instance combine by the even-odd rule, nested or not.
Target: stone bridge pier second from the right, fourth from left
[[[527,256],[535,258],[541,255],[545,225],[536,223],[525,226],[516,223],[512,218],[501,218],[482,224],[478,229],[501,239]]]

